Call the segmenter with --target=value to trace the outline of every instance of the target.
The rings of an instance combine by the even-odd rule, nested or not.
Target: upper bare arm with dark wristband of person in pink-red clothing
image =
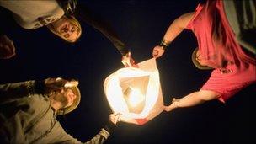
[[[163,36],[161,44],[154,47],[152,51],[153,57],[157,58],[163,55],[168,45],[186,28],[194,14],[195,12],[185,13],[170,24],[165,35]]]

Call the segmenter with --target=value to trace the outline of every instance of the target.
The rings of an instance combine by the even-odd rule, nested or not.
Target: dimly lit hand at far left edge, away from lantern
[[[15,56],[15,46],[7,35],[0,35],[0,59],[8,59]]]

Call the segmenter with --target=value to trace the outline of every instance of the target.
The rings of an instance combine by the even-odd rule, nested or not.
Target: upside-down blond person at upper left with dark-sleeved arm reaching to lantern
[[[125,47],[115,30],[109,24],[99,19],[77,0],[56,1],[0,1],[0,6],[13,13],[13,19],[24,29],[38,29],[46,26],[54,35],[70,43],[76,42],[82,35],[79,20],[98,29],[115,45],[122,56],[125,67],[132,67],[135,61],[131,51]],[[0,8],[0,11],[3,11]],[[5,16],[6,17],[6,16]],[[77,18],[77,19],[76,19]],[[0,30],[0,58],[8,59],[15,56],[13,41],[6,35],[5,29]]]

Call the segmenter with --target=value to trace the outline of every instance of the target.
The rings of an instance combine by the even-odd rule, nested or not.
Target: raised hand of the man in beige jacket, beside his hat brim
[[[67,81],[61,77],[45,79],[45,93],[61,92],[64,88],[77,87],[78,81]]]

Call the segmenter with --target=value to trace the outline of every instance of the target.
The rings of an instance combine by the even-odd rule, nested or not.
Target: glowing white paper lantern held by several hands
[[[156,60],[117,70],[104,81],[104,92],[121,120],[143,125],[163,111],[163,95]]]

